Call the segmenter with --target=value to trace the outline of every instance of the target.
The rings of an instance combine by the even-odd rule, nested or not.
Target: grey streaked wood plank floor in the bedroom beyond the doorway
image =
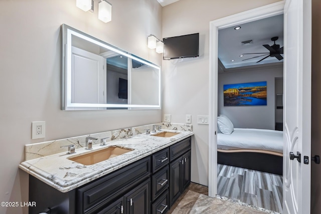
[[[217,194],[282,212],[282,176],[218,164]]]

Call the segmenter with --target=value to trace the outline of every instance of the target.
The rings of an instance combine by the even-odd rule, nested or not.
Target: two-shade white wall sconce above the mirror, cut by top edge
[[[94,0],[76,0],[76,6],[85,12],[94,12]],[[104,23],[111,21],[111,4],[105,0],[98,3],[98,19]]]

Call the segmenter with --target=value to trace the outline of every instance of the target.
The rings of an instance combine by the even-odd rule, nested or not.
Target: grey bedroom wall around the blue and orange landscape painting
[[[275,77],[283,76],[283,65],[247,68],[218,75],[218,114],[232,121],[234,128],[275,128]],[[266,106],[224,106],[223,85],[266,81]]]

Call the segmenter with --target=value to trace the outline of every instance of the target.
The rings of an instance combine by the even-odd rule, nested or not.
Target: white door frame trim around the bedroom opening
[[[217,194],[218,30],[283,14],[284,2],[253,9],[210,23],[209,196]]]

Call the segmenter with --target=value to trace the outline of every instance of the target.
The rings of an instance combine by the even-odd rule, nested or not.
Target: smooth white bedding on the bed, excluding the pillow
[[[218,149],[260,149],[283,153],[283,132],[267,129],[234,128],[229,134],[218,133]]]

